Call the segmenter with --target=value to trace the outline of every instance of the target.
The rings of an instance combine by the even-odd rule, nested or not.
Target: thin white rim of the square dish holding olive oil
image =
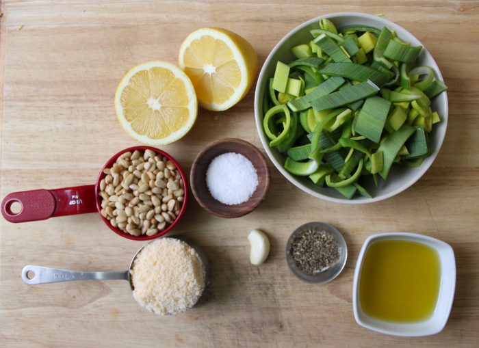
[[[359,273],[361,271],[361,267],[363,266],[363,261],[364,261],[364,256],[367,251],[367,249],[372,245],[372,243],[376,240],[380,240],[383,238],[387,239],[415,239],[418,241],[418,243],[421,243],[421,241],[426,242],[426,244],[430,247],[432,247],[436,252],[440,253],[441,251],[439,250],[438,247],[433,247],[432,245],[428,244],[427,242],[435,243],[441,245],[446,251],[443,251],[443,253],[450,252],[452,253],[452,272],[450,273],[450,278],[452,279],[451,283],[451,288],[452,291],[450,293],[450,296],[448,297],[448,302],[446,305],[448,308],[446,308],[445,315],[440,321],[440,323],[434,327],[431,330],[424,330],[423,332],[419,333],[411,333],[411,332],[401,332],[401,331],[393,331],[393,330],[384,330],[383,328],[376,327],[374,325],[370,325],[369,323],[366,323],[363,321],[359,315],[359,299],[358,299],[358,286],[359,286]],[[441,274],[441,278],[443,278],[443,274]],[[445,243],[445,241],[441,241],[441,239],[437,239],[434,237],[426,236],[426,235],[421,235],[419,233],[413,233],[413,232],[382,232],[382,233],[376,233],[374,235],[368,236],[364,243],[363,246],[361,247],[361,251],[359,252],[359,256],[356,262],[356,267],[354,267],[354,276],[353,276],[353,282],[352,282],[352,310],[354,312],[354,319],[356,322],[369,329],[372,331],[380,332],[381,334],[389,334],[393,336],[403,336],[403,337],[417,337],[417,336],[429,336],[433,334],[437,334],[443,330],[445,327],[445,324],[448,322],[450,312],[452,310],[452,303],[454,302],[454,293],[456,289],[456,260],[454,256],[454,250],[452,249],[451,245],[448,243]],[[378,321],[380,321],[378,319]],[[418,322],[421,323],[421,322]],[[398,325],[414,325],[413,323],[410,324],[398,324]]]

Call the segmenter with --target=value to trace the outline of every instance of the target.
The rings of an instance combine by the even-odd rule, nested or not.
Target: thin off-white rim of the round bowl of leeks
[[[259,120],[258,115],[259,115],[259,108],[262,105],[262,101],[259,100],[259,90],[261,88],[261,81],[263,81],[263,79],[265,79],[266,67],[270,64],[274,53],[276,53],[276,51],[281,46],[283,46],[283,44],[289,38],[294,36],[294,34],[296,34],[301,29],[303,29],[303,28],[305,28],[305,27],[307,27],[307,26],[309,26],[313,23],[318,23],[322,18],[333,19],[333,18],[338,18],[338,17],[342,17],[342,16],[358,16],[358,17],[366,18],[366,19],[373,19],[374,18],[375,20],[382,21],[385,26],[391,27],[391,28],[396,29],[396,30],[399,28],[401,31],[405,31],[407,34],[409,34],[409,36],[411,36],[411,38],[413,38],[413,41],[414,40],[416,41],[415,44],[422,45],[422,48],[424,49],[424,51],[426,51],[426,54],[428,54],[430,56],[430,59],[432,60],[432,63],[434,64],[434,66],[432,68],[435,68],[435,72],[437,74],[437,77],[439,78],[439,80],[444,81],[443,76],[441,75],[441,70],[439,70],[439,66],[437,65],[434,57],[432,57],[432,55],[429,53],[428,49],[426,49],[426,46],[424,46],[424,44],[422,44],[422,42],[417,40],[417,38],[413,34],[411,34],[408,30],[404,29],[400,25],[398,25],[398,24],[396,24],[392,21],[389,21],[389,20],[387,20],[383,17],[374,16],[372,14],[365,14],[365,13],[362,13],[362,12],[335,12],[335,13],[331,13],[331,14],[323,14],[322,16],[312,18],[309,21],[306,21],[305,23],[302,23],[302,24],[298,25],[298,27],[292,29],[292,31],[289,31],[289,33],[286,34],[274,46],[274,48],[271,50],[268,57],[266,57],[266,60],[263,64],[263,66],[261,67],[261,71],[259,72],[259,76],[258,76],[257,84],[256,84],[256,89],[255,89],[255,122],[256,122],[256,127],[257,127],[257,131],[258,131],[259,139],[261,140],[261,144],[263,145],[263,148],[265,149],[266,153],[268,154],[268,157],[270,158],[270,160],[272,161],[272,163],[274,164],[276,169],[279,170],[279,172],[281,172],[281,174],[283,174],[283,176],[285,176],[285,178],[287,178],[287,180],[290,183],[292,183],[293,185],[295,185],[296,187],[298,187],[302,191],[305,191],[306,193],[309,193],[311,196],[314,196],[314,197],[317,197],[317,198],[322,198],[323,200],[328,200],[329,202],[342,203],[342,204],[367,204],[367,203],[380,202],[381,200],[386,200],[387,198],[391,198],[393,196],[396,196],[398,193],[401,193],[402,191],[405,191],[406,189],[408,189],[409,187],[411,187],[412,185],[417,183],[417,181],[420,178],[422,178],[422,176],[427,172],[427,170],[430,168],[432,163],[434,163],[434,161],[435,161],[437,155],[439,154],[439,151],[441,150],[441,147],[443,145],[444,138],[445,138],[445,133],[446,133],[446,130],[447,130],[448,115],[449,115],[449,103],[448,103],[447,91],[443,92],[444,93],[444,98],[445,98],[445,108],[444,108],[444,112],[443,112],[443,115],[442,115],[443,119],[441,120],[441,122],[443,122],[445,124],[445,126],[443,127],[443,134],[441,134],[441,136],[439,137],[439,142],[437,143],[437,150],[434,153],[431,153],[427,157],[427,163],[422,163],[422,165],[420,165],[419,168],[415,168],[416,172],[415,172],[415,176],[413,177],[412,180],[407,181],[406,183],[404,183],[404,185],[398,187],[398,189],[395,189],[395,190],[393,190],[389,193],[386,193],[386,194],[380,194],[380,195],[378,195],[376,197],[373,197],[373,198],[361,197],[361,198],[353,198],[351,200],[348,200],[346,198],[335,198],[335,197],[327,196],[323,193],[319,193],[318,191],[314,191],[312,189],[309,189],[309,187],[300,183],[293,174],[290,174],[289,172],[287,172],[287,170],[285,170],[285,168],[283,168],[283,165],[281,165],[281,163],[279,163],[274,158],[274,156],[272,154],[272,150],[271,150],[271,148],[268,144],[268,140],[266,139],[266,137],[264,137],[263,133],[261,132],[263,124],[262,124],[262,121]]]

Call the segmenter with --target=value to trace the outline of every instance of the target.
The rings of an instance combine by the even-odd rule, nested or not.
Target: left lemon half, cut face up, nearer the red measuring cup
[[[192,128],[198,102],[190,79],[162,61],[131,68],[115,93],[116,116],[131,137],[151,146],[177,141]]]

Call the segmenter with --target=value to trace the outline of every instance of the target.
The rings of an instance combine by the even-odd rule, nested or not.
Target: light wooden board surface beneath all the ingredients
[[[222,219],[190,201],[175,233],[211,262],[205,299],[177,317],[156,317],[127,282],[27,286],[25,265],[126,270],[143,243],[122,239],[96,214],[10,224],[0,219],[1,347],[474,347],[479,341],[479,1],[3,1],[0,5],[1,192],[94,183],[118,150],[137,145],[116,121],[113,96],[127,69],[177,62],[198,27],[225,27],[253,44],[260,64],[288,31],[331,12],[383,13],[437,60],[450,90],[439,157],[413,187],[370,205],[318,200],[271,165],[266,200],[245,217]],[[259,148],[254,90],[229,111],[200,109],[192,131],[164,147],[189,171],[198,151],[239,137]],[[261,148],[262,150],[262,148]],[[324,221],[343,232],[346,268],[333,282],[300,282],[285,263],[287,237]],[[271,254],[248,260],[246,239],[265,230]],[[368,235],[412,231],[454,247],[457,286],[443,332],[397,338],[366,330],[352,314],[352,275]]]

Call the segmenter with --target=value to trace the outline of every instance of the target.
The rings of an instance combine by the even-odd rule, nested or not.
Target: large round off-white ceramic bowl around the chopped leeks
[[[395,196],[396,194],[404,191],[411,185],[413,185],[421,176],[428,170],[432,162],[437,157],[439,149],[443,144],[445,130],[448,125],[448,96],[445,92],[441,93],[439,96],[435,97],[432,101],[431,107],[433,110],[439,113],[441,117],[441,122],[433,126],[433,130],[430,137],[430,151],[431,155],[424,159],[419,168],[407,168],[405,166],[393,165],[391,172],[387,178],[387,181],[380,180],[379,187],[374,187],[374,185],[369,185],[366,187],[370,193],[372,193],[373,198],[365,198],[362,196],[354,197],[352,200],[348,200],[341,196],[339,192],[335,189],[328,187],[318,187],[314,185],[308,177],[302,178],[300,176],[294,176],[285,170],[285,156],[276,150],[276,148],[270,148],[270,140],[266,137],[266,134],[263,130],[263,95],[268,93],[268,79],[274,76],[274,70],[276,68],[276,62],[281,60],[281,62],[291,62],[294,60],[294,55],[291,53],[290,49],[293,46],[298,44],[304,44],[311,40],[311,34],[309,31],[311,29],[319,28],[319,21],[321,18],[329,18],[335,23],[337,27],[344,27],[346,25],[370,25],[371,27],[376,27],[382,29],[384,26],[389,29],[393,29],[398,34],[398,37],[406,42],[411,42],[414,46],[422,45],[423,49],[418,57],[419,65],[428,65],[432,67],[437,75],[437,78],[443,81],[439,67],[437,66],[435,60],[432,58],[432,55],[427,51],[424,44],[419,42],[413,34],[406,31],[406,29],[400,27],[396,23],[387,21],[387,19],[372,16],[370,14],[363,14],[357,12],[341,12],[335,14],[325,14],[324,16],[319,16],[316,18],[303,23],[296,29],[289,31],[283,39],[281,39],[274,49],[271,51],[266,62],[261,68],[259,73],[258,82],[256,85],[255,92],[255,120],[256,126],[259,133],[259,138],[261,143],[263,143],[263,148],[266,150],[268,157],[270,157],[274,166],[289,180],[291,183],[309,193],[312,196],[322,198],[324,200],[329,200],[331,202],[346,203],[346,204],[363,204],[363,203],[372,203],[378,202],[380,200],[385,200],[386,198]]]

